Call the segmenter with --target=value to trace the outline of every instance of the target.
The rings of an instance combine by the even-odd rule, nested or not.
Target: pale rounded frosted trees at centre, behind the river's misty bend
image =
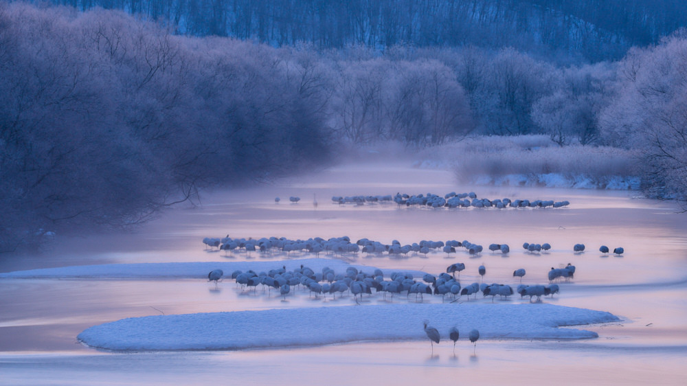
[[[437,60],[343,60],[339,67],[335,128],[351,141],[395,139],[425,146],[463,137],[473,128],[462,87]]]

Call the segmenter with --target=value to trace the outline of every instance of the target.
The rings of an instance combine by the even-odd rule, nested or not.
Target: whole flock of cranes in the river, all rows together
[[[300,197],[291,196],[289,197],[291,203],[299,203]],[[498,209],[505,209],[507,207],[511,208],[546,208],[546,207],[565,207],[570,205],[568,201],[542,201],[542,200],[527,200],[527,199],[515,199],[510,198],[502,199],[488,199],[488,198],[477,198],[477,194],[474,192],[460,193],[456,194],[451,192],[445,194],[444,196],[439,196],[436,194],[401,194],[396,195],[385,195],[385,196],[333,196],[332,201],[339,205],[365,205],[367,203],[396,203],[399,207],[431,207],[431,208],[491,208],[495,207]],[[280,198],[275,198],[275,203],[279,203]],[[313,206],[317,207],[317,198],[313,195]],[[428,253],[443,251],[447,253],[447,257],[451,253],[456,253],[457,248],[464,248],[469,255],[479,255],[483,251],[482,245],[477,245],[468,240],[447,240],[443,241],[433,241],[433,240],[421,240],[420,242],[414,242],[412,244],[401,245],[398,240],[393,240],[391,244],[384,244],[379,241],[370,240],[368,238],[362,238],[357,240],[357,242],[351,242],[348,236],[343,236],[339,238],[329,238],[325,240],[324,238],[308,238],[307,240],[290,240],[288,238],[229,238],[229,235],[225,238],[204,238],[203,243],[210,249],[218,249],[225,251],[225,253],[234,253],[235,251],[245,251],[251,253],[252,251],[260,251],[260,253],[313,253],[315,256],[319,256],[319,253],[327,253],[328,255],[343,255],[352,254],[357,255],[357,253],[368,253],[381,255],[382,253],[387,253],[388,256],[407,256],[409,253],[414,255],[420,253],[427,256]],[[528,253],[540,253],[550,251],[551,245],[547,242],[543,244],[523,243],[523,249]],[[495,253],[499,251],[500,253],[506,255],[510,252],[510,247],[507,244],[491,244],[488,249]],[[573,251],[575,253],[582,253],[585,251],[585,245],[576,244],[573,246]],[[601,253],[609,253],[609,247],[602,245],[599,248]],[[624,253],[622,247],[617,247],[613,249],[613,253],[620,256]],[[393,272],[391,275],[385,279],[384,274],[379,269],[374,269],[372,273],[359,271],[353,266],[349,266],[346,272],[336,273],[333,269],[324,267],[322,272],[315,272],[313,269],[301,265],[300,268],[294,269],[293,271],[286,271],[286,266],[282,266],[280,269],[272,269],[267,272],[256,273],[256,271],[234,271],[232,272],[232,280],[236,281],[236,284],[241,286],[243,289],[250,291],[257,291],[258,286],[262,286],[262,291],[271,291],[272,289],[278,290],[280,296],[286,299],[289,293],[292,293],[292,288],[304,288],[307,289],[308,293],[312,296],[319,297],[322,295],[326,299],[327,295],[331,295],[333,298],[339,293],[339,297],[343,297],[344,293],[352,294],[353,299],[356,304],[360,304],[363,299],[363,295],[373,295],[373,290],[375,294],[383,293],[386,299],[387,294],[393,299],[394,295],[401,295],[405,293],[406,297],[410,297],[411,294],[415,295],[416,301],[419,299],[424,300],[424,295],[440,295],[442,297],[442,302],[446,297],[455,302],[460,299],[460,297],[465,296],[466,301],[471,299],[471,295],[477,298],[479,293],[482,293],[483,297],[491,296],[492,302],[496,296],[501,298],[506,298],[514,293],[518,293],[521,298],[529,296],[530,302],[534,297],[537,301],[540,301],[543,296],[553,296],[559,293],[560,288],[558,284],[554,284],[557,280],[570,280],[574,277],[576,267],[572,264],[567,264],[564,268],[554,268],[552,267],[548,271],[549,285],[526,285],[521,284],[522,278],[526,275],[526,270],[523,268],[515,269],[513,271],[513,277],[519,277],[520,284],[513,291],[513,287],[508,284],[484,283],[484,275],[486,274],[486,268],[484,265],[480,265],[477,268],[477,273],[482,277],[482,283],[473,282],[466,286],[461,286],[460,284],[460,272],[464,271],[466,266],[464,263],[454,263],[447,266],[446,272],[442,272],[439,275],[431,275],[430,273],[425,273],[422,280],[416,280],[412,273],[408,272]],[[458,279],[456,279],[455,274],[458,273]],[[207,275],[207,279],[211,282],[217,283],[223,278],[223,271],[221,269],[216,269],[211,271]],[[424,330],[431,342],[431,348],[433,353],[433,343],[440,342],[440,333],[436,328],[429,326],[429,321],[424,321]],[[449,339],[453,341],[453,351],[455,354],[455,343],[458,341],[460,333],[458,328],[453,326],[449,330]],[[469,332],[469,340],[475,345],[475,350],[477,346],[477,340],[480,338],[480,332],[477,329],[473,329]]]

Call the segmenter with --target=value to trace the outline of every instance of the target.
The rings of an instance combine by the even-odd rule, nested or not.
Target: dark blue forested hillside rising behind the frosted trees
[[[181,34],[271,45],[515,47],[563,60],[618,59],[687,23],[682,0],[50,0],[165,21]]]

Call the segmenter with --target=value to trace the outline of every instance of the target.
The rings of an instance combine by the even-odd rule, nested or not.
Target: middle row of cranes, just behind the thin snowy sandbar
[[[314,253],[315,256],[319,256],[319,253],[343,255],[352,254],[356,255],[359,252],[377,255],[382,253],[387,253],[388,256],[408,256],[408,253],[421,253],[427,256],[430,252],[443,251],[447,254],[447,257],[451,256],[451,253],[456,253],[456,248],[464,248],[469,255],[478,255],[482,253],[483,247],[479,244],[474,244],[468,240],[447,240],[443,241],[433,241],[433,240],[421,240],[420,242],[414,242],[412,244],[401,245],[398,240],[393,240],[391,244],[383,244],[382,242],[370,240],[368,238],[361,238],[357,242],[351,242],[348,236],[329,238],[325,240],[324,238],[308,238],[307,240],[291,240],[289,238],[281,237],[270,237],[270,238],[230,238],[229,235],[225,238],[203,238],[203,244],[207,248],[215,249],[220,251],[225,251],[225,253],[234,253],[234,251],[245,251],[251,253],[254,251],[260,251],[260,253]],[[543,244],[534,244],[525,242],[523,244],[523,249],[529,253],[539,253],[540,251],[549,251],[551,245],[548,242]],[[489,245],[489,250],[492,252],[500,251],[502,254],[507,254],[510,252],[510,247],[507,244],[491,244]],[[585,250],[584,244],[576,244],[573,247],[573,251],[576,253],[581,253]],[[599,248],[602,253],[609,253],[609,248],[602,245]],[[624,253],[622,247],[613,249],[613,253],[620,256]]]

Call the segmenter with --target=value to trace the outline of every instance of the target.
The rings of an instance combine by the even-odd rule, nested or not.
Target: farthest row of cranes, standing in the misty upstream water
[[[313,196],[314,197],[314,196]],[[274,199],[275,203],[279,203],[281,199],[276,197]],[[300,197],[291,196],[289,197],[291,203],[298,203]],[[392,196],[388,194],[386,196],[333,196],[333,203],[339,205],[353,204],[353,205],[365,205],[365,203],[396,203],[398,206],[405,207],[433,207],[433,208],[488,208],[495,207],[498,209],[505,209],[507,207],[513,208],[545,208],[545,207],[565,207],[570,205],[569,201],[553,201],[553,200],[528,200],[528,199],[515,199],[510,198],[495,198],[493,200],[489,198],[477,198],[475,192],[469,193],[455,193],[451,192],[440,196],[438,194],[401,194],[396,193]],[[317,207],[317,199],[313,198],[313,205]]]

